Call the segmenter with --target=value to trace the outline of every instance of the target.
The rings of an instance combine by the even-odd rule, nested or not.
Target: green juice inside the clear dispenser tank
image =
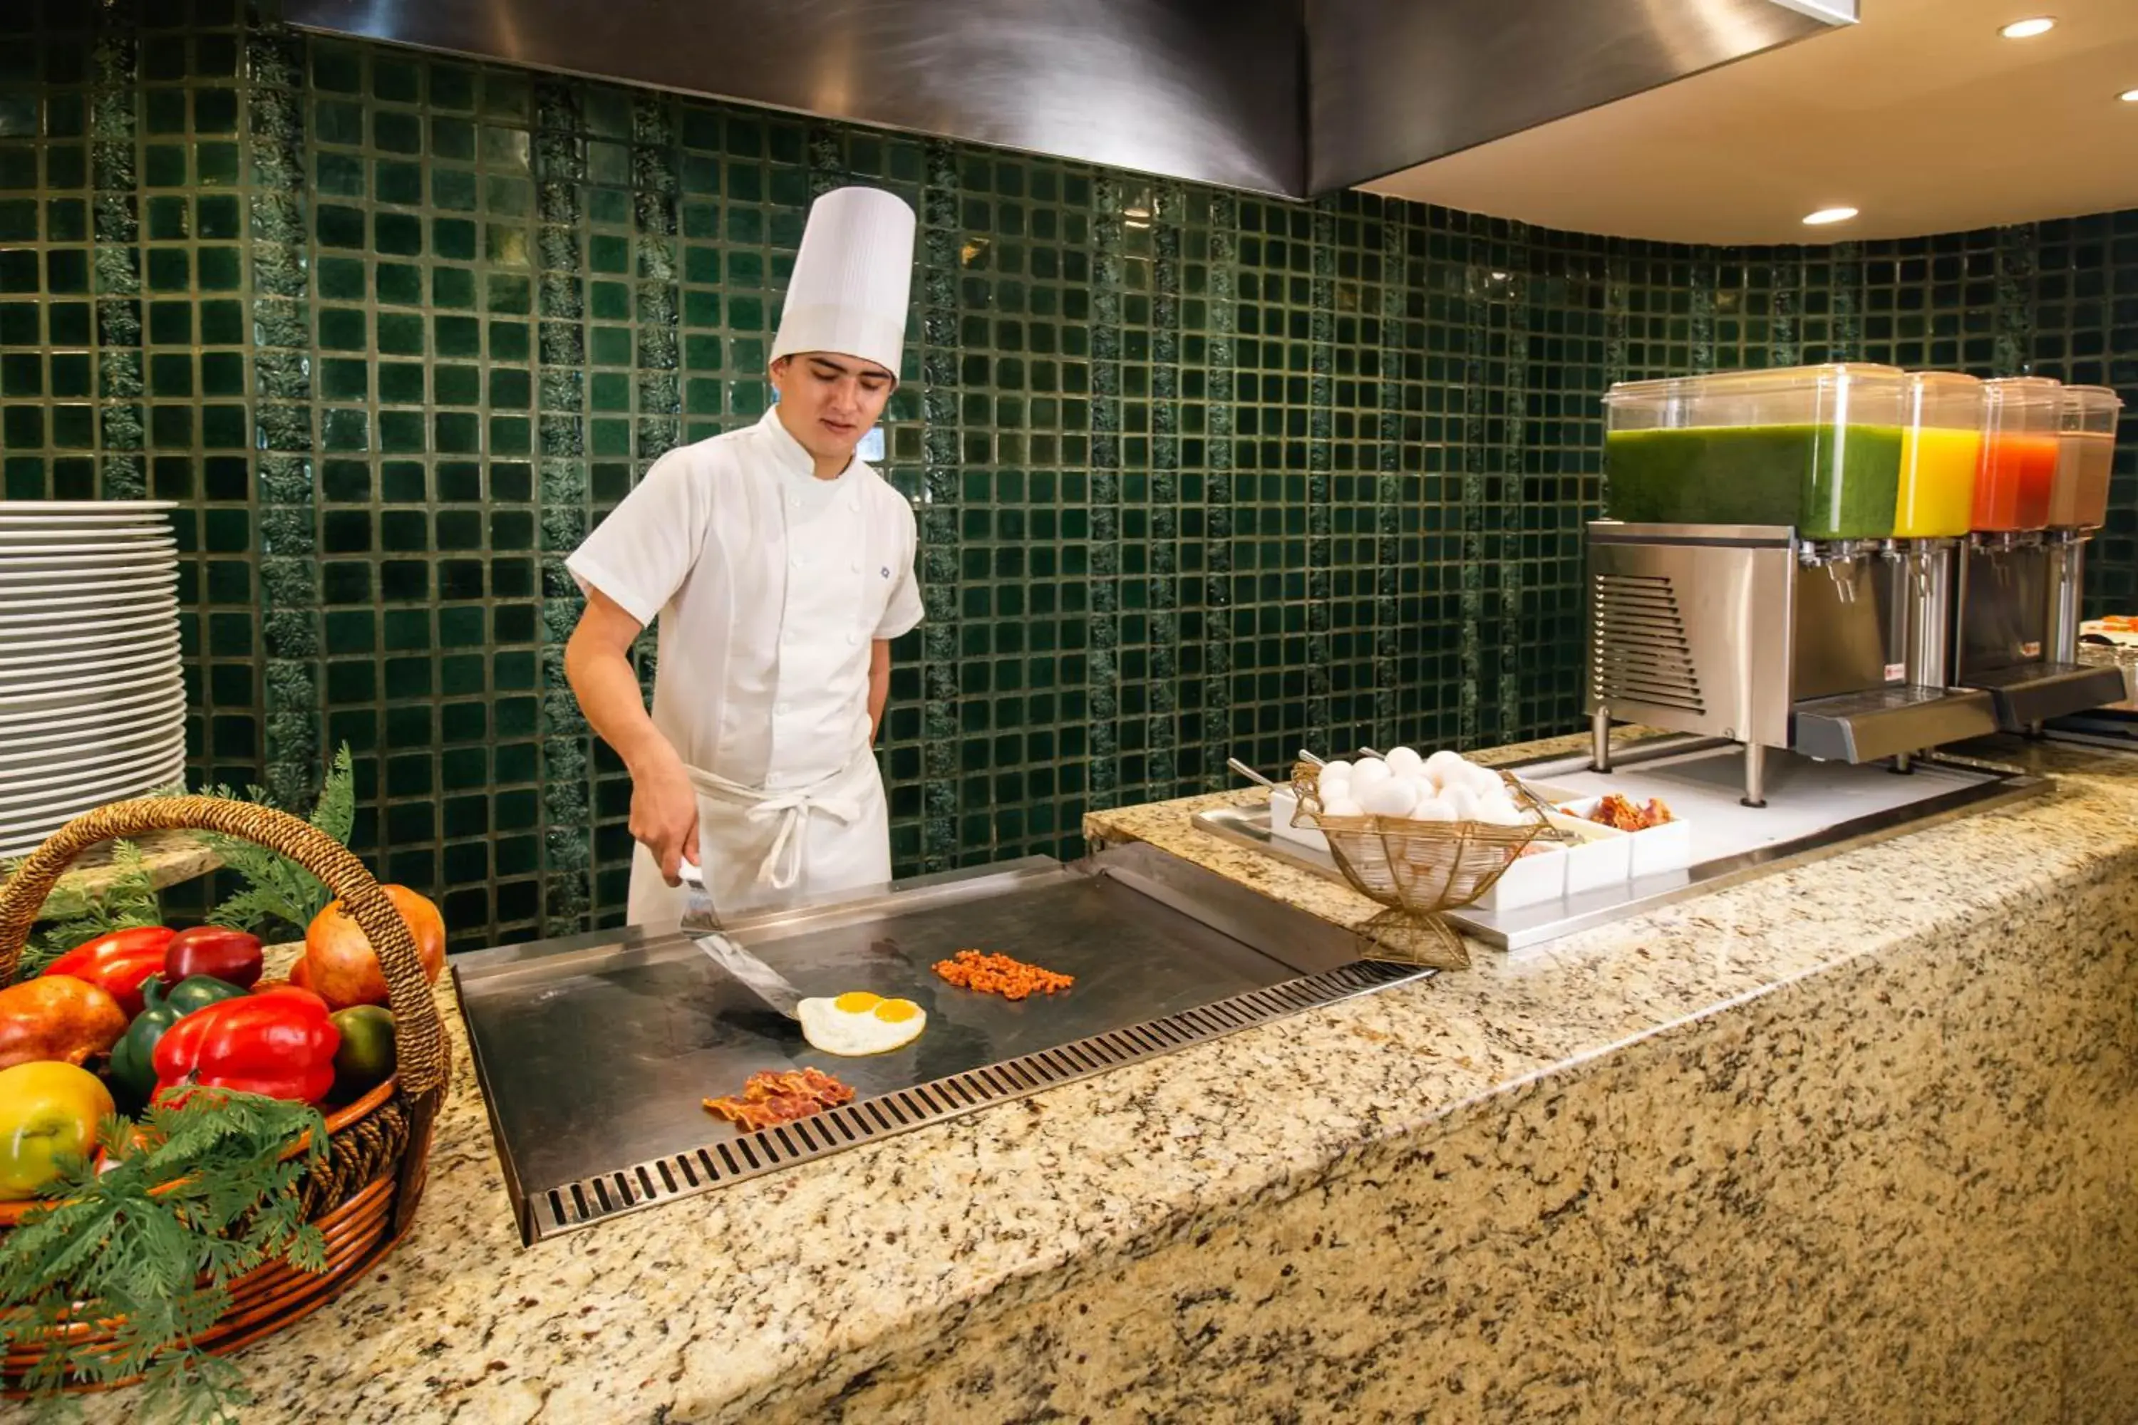
[[[1612,519],[1785,523],[1804,538],[1892,538],[1899,425],[1695,425],[1604,438]]]

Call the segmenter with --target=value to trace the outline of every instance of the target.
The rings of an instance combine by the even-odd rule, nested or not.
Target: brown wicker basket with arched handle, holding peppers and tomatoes
[[[396,1075],[327,1117],[327,1154],[299,1186],[306,1220],[327,1239],[327,1269],[310,1273],[265,1263],[233,1278],[222,1318],[197,1337],[199,1346],[227,1354],[331,1301],[408,1231],[423,1196],[432,1126],[445,1102],[445,1023],[408,925],[346,846],[286,812],[212,797],[115,801],[53,831],[0,889],[0,985],[13,981],[36,910],[60,872],[90,846],[145,831],[237,835],[319,876],[378,951],[393,1011]],[[297,1143],[291,1154],[304,1147]],[[0,1203],[0,1243],[30,1207],[34,1203]],[[68,1350],[92,1354],[107,1348],[111,1325],[98,1316],[96,1303],[83,1303]],[[0,1361],[0,1382],[17,1384],[36,1354],[38,1348],[13,1348]]]

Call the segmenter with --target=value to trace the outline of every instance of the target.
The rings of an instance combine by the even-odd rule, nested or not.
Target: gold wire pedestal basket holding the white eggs
[[[1366,899],[1385,906],[1358,927],[1375,953],[1435,970],[1467,970],[1469,949],[1443,912],[1469,906],[1507,874],[1539,835],[1559,833],[1544,820],[1544,803],[1516,778],[1499,773],[1531,820],[1499,827],[1479,820],[1411,820],[1407,816],[1326,816],[1321,767],[1298,763],[1291,788],[1300,797],[1293,825],[1313,825],[1330,844],[1330,859]]]

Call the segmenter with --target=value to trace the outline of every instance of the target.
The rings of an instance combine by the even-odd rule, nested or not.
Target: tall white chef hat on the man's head
[[[834,188],[817,199],[772,359],[827,350],[896,376],[913,288],[913,209],[881,188]]]

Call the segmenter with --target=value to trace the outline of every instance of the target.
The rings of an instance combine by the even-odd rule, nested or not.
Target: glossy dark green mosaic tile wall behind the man
[[[1240,754],[1578,718],[1618,378],[1862,357],[2138,400],[2138,214],[1804,250],[1274,203],[314,41],[231,0],[0,13],[0,491],[180,502],[192,773],[301,801],[455,946],[614,923],[629,782],[562,555],[761,414],[808,201],[921,214],[889,479],[930,622],[902,872],[1073,852]],[[2138,594],[2119,455],[2093,598]],[[650,675],[650,652],[648,652]]]

